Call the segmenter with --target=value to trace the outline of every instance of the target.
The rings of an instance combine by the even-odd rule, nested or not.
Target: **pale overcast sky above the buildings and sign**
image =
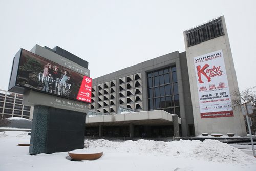
[[[256,1],[0,1],[0,89],[38,44],[89,62],[91,77],[185,51],[183,31],[224,15],[240,90],[256,86]],[[128,60],[129,59],[129,60]]]

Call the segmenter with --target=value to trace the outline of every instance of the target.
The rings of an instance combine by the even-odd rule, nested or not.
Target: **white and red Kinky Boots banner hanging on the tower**
[[[201,118],[233,116],[222,50],[194,57]]]

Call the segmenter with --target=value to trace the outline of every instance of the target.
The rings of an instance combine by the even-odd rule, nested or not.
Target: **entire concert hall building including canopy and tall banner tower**
[[[183,34],[185,52],[93,79],[87,135],[246,136],[244,118],[231,105],[238,82],[224,16]]]

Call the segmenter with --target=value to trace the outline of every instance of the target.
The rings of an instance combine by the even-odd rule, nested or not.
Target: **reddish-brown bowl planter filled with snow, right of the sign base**
[[[76,149],[68,153],[73,160],[96,160],[103,155],[101,151],[89,151],[87,149]]]

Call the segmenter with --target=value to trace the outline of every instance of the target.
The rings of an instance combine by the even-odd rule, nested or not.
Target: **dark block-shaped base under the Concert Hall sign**
[[[85,113],[35,105],[29,153],[84,148],[85,119]]]

